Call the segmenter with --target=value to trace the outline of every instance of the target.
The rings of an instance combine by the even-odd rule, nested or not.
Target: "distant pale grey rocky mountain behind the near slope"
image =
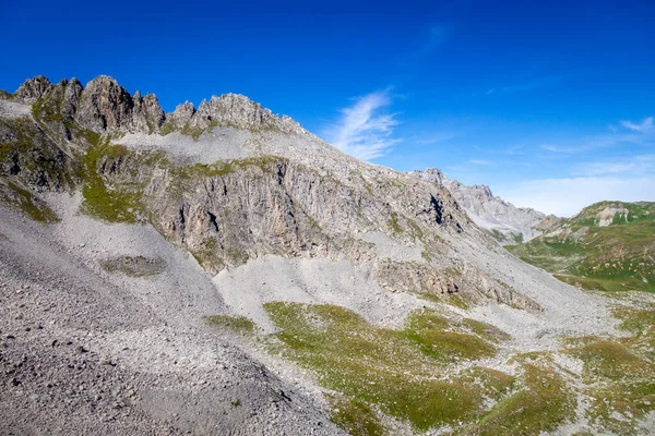
[[[537,226],[546,218],[546,214],[532,208],[515,207],[493,196],[487,185],[462,184],[449,179],[437,168],[412,171],[409,174],[445,186],[471,219],[483,229],[487,229],[502,245],[529,241],[540,234]]]

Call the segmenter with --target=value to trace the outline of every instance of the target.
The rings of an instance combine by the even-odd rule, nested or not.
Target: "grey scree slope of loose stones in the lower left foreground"
[[[66,219],[46,228],[4,207],[0,218],[1,434],[340,433],[206,325],[224,310],[219,294],[152,229],[78,221],[73,238]],[[154,251],[172,270],[112,277],[95,261],[114,251]]]

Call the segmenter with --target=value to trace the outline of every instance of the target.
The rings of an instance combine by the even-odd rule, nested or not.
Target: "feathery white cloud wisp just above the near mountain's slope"
[[[337,123],[326,132],[327,142],[359,159],[370,160],[384,155],[397,144],[393,130],[398,124],[391,106],[390,89],[365,95],[341,110]]]

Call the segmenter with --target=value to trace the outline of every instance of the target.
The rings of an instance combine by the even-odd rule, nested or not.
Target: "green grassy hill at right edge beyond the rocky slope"
[[[587,290],[655,292],[655,203],[596,203],[508,250]]]

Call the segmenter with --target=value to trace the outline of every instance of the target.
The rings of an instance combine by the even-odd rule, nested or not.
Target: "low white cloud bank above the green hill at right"
[[[655,175],[584,177],[533,180],[499,186],[495,193],[520,207],[570,217],[593,203],[606,199],[655,201],[653,186]]]

